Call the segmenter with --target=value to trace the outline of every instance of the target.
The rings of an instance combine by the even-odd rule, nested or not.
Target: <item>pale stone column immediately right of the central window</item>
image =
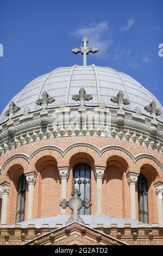
[[[102,214],[102,192],[103,192],[103,176],[105,167],[95,167],[95,177],[97,184],[97,211],[96,214]]]

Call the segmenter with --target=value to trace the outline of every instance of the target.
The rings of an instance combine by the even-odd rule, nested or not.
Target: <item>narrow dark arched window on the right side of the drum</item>
[[[139,221],[148,223],[148,184],[145,175],[140,173],[137,182]]]

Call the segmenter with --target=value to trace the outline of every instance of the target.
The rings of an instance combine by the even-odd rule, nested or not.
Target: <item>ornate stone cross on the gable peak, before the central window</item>
[[[89,199],[82,200],[80,198],[80,192],[76,189],[74,189],[74,191],[71,193],[71,196],[72,198],[69,201],[67,201],[66,199],[63,199],[59,204],[63,209],[66,209],[66,207],[69,206],[70,209],[73,210],[73,214],[71,215],[70,218],[68,218],[66,224],[74,221],[84,224],[82,218],[78,214],[78,211],[83,206],[85,206],[86,209],[89,208],[92,203]]]

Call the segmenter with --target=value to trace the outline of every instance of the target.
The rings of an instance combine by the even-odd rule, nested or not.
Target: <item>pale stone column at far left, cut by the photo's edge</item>
[[[1,224],[7,224],[7,212],[8,212],[8,197],[10,191],[10,184],[4,182],[1,184],[2,192],[2,209],[1,209]]]

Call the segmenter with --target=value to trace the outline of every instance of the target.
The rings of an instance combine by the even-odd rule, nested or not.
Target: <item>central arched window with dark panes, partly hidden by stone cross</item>
[[[82,200],[91,199],[91,168],[86,163],[78,163],[74,167],[74,188],[80,191]],[[79,214],[90,214],[90,208],[83,206]]]

